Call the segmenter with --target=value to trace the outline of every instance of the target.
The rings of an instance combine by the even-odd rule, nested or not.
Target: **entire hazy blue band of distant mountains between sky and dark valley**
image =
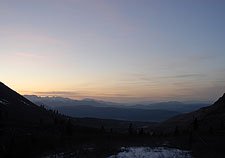
[[[123,105],[94,99],[72,100],[62,97],[38,97],[25,95],[37,105],[58,110],[72,117],[93,117],[132,121],[163,121],[184,112],[194,111],[207,104],[162,102],[150,105]]]

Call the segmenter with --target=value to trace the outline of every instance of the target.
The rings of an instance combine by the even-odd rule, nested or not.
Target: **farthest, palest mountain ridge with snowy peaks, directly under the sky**
[[[46,104],[51,108],[56,106],[62,106],[62,103],[68,102],[70,106],[77,106],[77,105],[91,105],[94,107],[116,107],[116,108],[135,108],[135,109],[146,109],[146,110],[168,110],[168,111],[176,111],[179,113],[187,113],[194,110],[197,110],[201,107],[206,107],[210,104],[186,104],[183,102],[178,101],[168,101],[168,102],[159,102],[159,103],[152,103],[149,105],[143,104],[136,104],[136,105],[129,105],[129,104],[120,104],[120,103],[113,103],[113,102],[105,102],[101,100],[94,100],[94,99],[83,99],[83,100],[73,100],[69,98],[63,97],[38,97],[36,95],[24,95],[26,98],[31,100],[32,102],[40,105]],[[59,101],[59,102],[57,102]],[[55,102],[54,105],[52,102]],[[72,104],[73,103],[73,104]],[[65,104],[64,104],[65,105]]]

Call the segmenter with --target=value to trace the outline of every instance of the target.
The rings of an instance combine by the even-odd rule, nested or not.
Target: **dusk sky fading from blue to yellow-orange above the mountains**
[[[21,94],[215,101],[223,0],[0,0],[0,81]]]

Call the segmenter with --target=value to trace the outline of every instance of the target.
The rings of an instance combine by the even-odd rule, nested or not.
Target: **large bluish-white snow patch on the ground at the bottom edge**
[[[108,158],[191,158],[190,151],[172,148],[130,147],[121,148],[121,152]]]

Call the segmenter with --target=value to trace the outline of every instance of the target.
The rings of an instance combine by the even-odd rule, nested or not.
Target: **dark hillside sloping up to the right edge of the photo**
[[[192,129],[194,124],[200,130],[223,129],[225,128],[225,94],[213,105],[200,108],[194,112],[177,115],[164,122],[159,127],[161,129],[174,130],[175,127]]]

